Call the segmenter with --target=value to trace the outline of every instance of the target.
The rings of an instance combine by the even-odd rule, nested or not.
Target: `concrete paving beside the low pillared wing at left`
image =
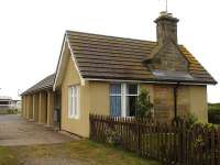
[[[73,140],[44,125],[29,122],[18,114],[0,116],[0,146],[53,144]]]

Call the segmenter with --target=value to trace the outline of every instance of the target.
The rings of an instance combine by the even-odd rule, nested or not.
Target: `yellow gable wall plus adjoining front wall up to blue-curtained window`
[[[68,118],[68,87],[79,85],[80,117],[79,119]],[[80,84],[79,75],[74,62],[69,58],[62,82],[62,130],[86,136],[89,135],[89,113],[110,114],[110,82],[86,81]],[[152,85],[141,85],[153,96]],[[152,97],[153,100],[153,97]]]

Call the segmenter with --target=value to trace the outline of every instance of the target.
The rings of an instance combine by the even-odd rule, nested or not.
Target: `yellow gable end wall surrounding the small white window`
[[[80,85],[80,78],[69,57],[62,82],[62,130],[88,136],[89,135],[89,84]],[[79,119],[68,118],[68,87],[79,85]]]

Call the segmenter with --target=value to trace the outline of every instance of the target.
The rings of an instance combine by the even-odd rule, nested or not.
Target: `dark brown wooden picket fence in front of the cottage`
[[[168,165],[220,165],[220,129],[90,114],[90,139]]]

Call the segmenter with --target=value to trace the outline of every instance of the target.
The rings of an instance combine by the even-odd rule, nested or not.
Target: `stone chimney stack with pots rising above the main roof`
[[[177,23],[178,19],[172,13],[161,12],[160,16],[154,21],[156,23],[157,43],[164,45],[168,42],[178,44],[177,41]]]

